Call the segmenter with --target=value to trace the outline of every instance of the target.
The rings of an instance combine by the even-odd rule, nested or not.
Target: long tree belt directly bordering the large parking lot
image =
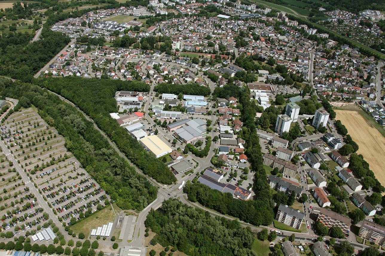
[[[47,90],[21,81],[1,78],[0,94],[20,99],[17,108],[36,106],[39,115],[64,136],[67,149],[119,207],[140,211],[156,198],[157,188],[121,158],[79,110]]]

